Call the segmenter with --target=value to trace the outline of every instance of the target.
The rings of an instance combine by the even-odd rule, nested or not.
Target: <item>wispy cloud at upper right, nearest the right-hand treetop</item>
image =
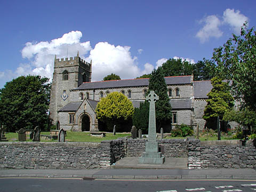
[[[240,13],[239,10],[235,11],[234,9],[226,9],[223,12],[223,24],[230,25],[236,34],[240,33],[243,23],[248,20],[249,19]]]

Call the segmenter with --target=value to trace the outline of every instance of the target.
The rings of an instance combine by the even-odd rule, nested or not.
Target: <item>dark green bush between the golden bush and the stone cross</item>
[[[142,133],[148,133],[149,102],[141,102],[139,108],[134,109],[132,124],[141,129]]]

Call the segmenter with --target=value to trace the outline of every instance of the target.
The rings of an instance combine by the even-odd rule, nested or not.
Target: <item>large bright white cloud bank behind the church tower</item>
[[[99,42],[92,49],[90,41],[80,42],[81,31],[71,31],[50,42],[28,42],[22,49],[22,57],[28,59],[15,71],[0,71],[0,78],[10,81],[21,75],[41,75],[52,79],[55,54],[57,58],[79,56],[86,61],[92,60],[92,81],[102,81],[103,77],[115,73],[122,79],[135,78],[151,73],[154,66],[146,63],[143,69],[137,65],[137,57],[131,55],[129,46],[115,46]],[[138,50],[139,51],[139,50]],[[143,50],[140,50],[142,52]],[[85,58],[85,54],[90,55]]]

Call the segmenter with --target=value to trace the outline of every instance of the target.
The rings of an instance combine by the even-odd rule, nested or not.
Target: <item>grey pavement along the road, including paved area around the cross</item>
[[[138,158],[138,157],[137,157]],[[0,178],[81,178],[147,179],[147,180],[255,180],[254,169],[198,169],[188,170],[186,158],[166,158],[163,165],[138,164],[136,157],[125,157],[111,169],[2,169]]]

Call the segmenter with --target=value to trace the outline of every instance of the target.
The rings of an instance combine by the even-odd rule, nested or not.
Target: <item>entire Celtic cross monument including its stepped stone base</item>
[[[146,150],[139,158],[139,163],[144,164],[163,164],[165,157],[159,152],[159,145],[156,141],[156,111],[155,102],[159,99],[154,91],[150,91],[146,100],[149,101],[149,123],[148,123],[148,141],[146,142]]]

